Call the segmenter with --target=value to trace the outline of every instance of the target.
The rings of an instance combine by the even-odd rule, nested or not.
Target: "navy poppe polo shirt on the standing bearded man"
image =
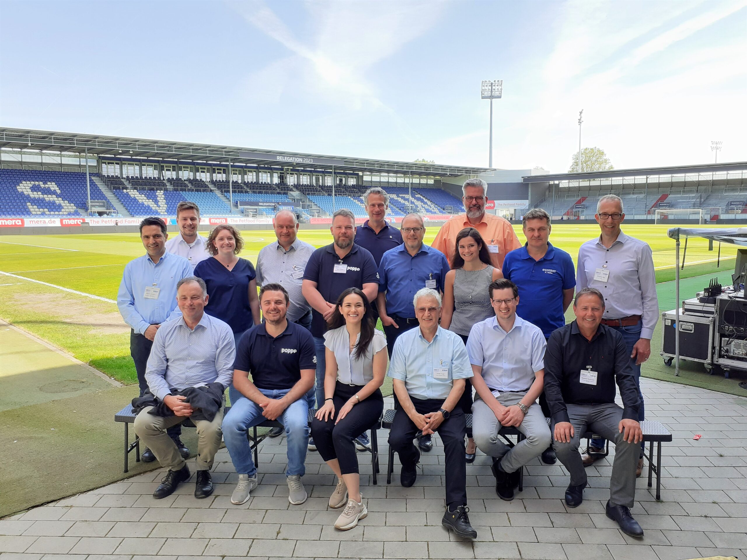
[[[335,273],[335,264],[346,264],[347,269],[344,273]],[[303,279],[316,282],[317,290],[324,300],[336,303],[340,294],[349,287],[363,289],[363,284],[378,284],[379,274],[376,272],[376,262],[373,261],[368,249],[353,243],[350,252],[344,258],[339,258],[335,252],[335,243],[329,243],[311,253]],[[324,316],[314,309],[311,317],[311,334],[320,338],[326,330]]]

